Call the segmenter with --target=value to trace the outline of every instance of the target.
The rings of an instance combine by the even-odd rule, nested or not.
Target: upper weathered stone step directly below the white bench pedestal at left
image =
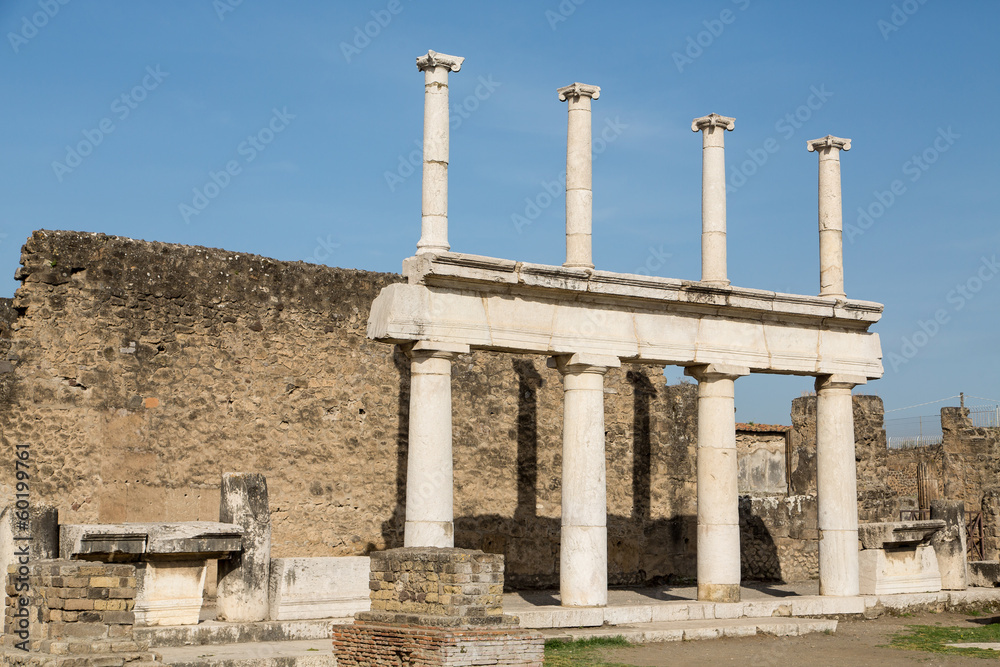
[[[333,626],[350,624],[353,617],[323,618],[304,621],[260,621],[225,623],[203,621],[198,625],[162,625],[135,628],[135,640],[148,642],[154,649],[170,646],[207,644],[248,644],[252,642],[289,642],[330,639]]]

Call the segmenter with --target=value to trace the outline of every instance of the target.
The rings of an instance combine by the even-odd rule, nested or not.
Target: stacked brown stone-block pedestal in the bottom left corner
[[[3,664],[162,664],[148,645],[133,636],[132,565],[48,560],[11,566],[6,593]]]

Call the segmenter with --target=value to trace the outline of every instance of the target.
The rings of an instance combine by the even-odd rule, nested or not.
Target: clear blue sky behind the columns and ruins
[[[861,391],[887,409],[1000,397],[1000,3],[5,0],[0,27],[0,295],[39,228],[399,271],[420,231],[414,59],[434,49],[466,57],[453,250],[562,263],[563,198],[545,196],[565,167],[555,91],[582,81],[602,88],[608,138],[598,268],[699,277],[690,123],[715,112],[736,118],[730,279],[815,294],[805,144],[849,137],[846,291],[886,306],[886,376]],[[737,418],[787,423],[811,389],[742,379]]]

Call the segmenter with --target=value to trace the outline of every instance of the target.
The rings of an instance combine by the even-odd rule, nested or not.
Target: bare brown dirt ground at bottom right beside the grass
[[[980,627],[984,623],[1000,622],[1000,617],[986,614],[971,617],[945,612],[916,613],[909,617],[882,616],[870,621],[841,621],[832,635],[809,634],[802,637],[742,637],[692,642],[664,642],[635,648],[608,649],[603,659],[627,665],[746,665],[798,667],[849,667],[877,665],[947,665],[965,667],[993,664],[994,660],[946,656],[939,653],[906,651],[889,648],[892,636],[907,625],[937,625]],[[1000,651],[996,660],[1000,661]]]

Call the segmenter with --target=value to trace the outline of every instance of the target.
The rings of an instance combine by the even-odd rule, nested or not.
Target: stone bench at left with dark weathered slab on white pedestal
[[[243,529],[231,523],[68,524],[59,527],[67,560],[134,563],[138,625],[194,625],[202,607],[208,561],[243,550]]]

